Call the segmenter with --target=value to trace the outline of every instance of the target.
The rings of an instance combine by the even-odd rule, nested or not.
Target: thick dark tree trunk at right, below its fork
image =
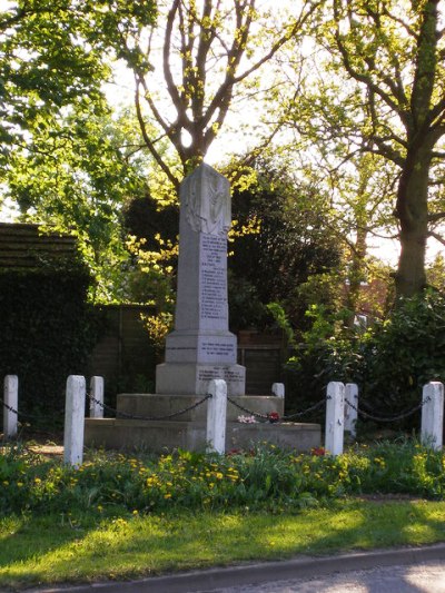
[[[396,298],[411,297],[426,286],[431,149],[408,155],[397,191],[400,255],[395,278]]]

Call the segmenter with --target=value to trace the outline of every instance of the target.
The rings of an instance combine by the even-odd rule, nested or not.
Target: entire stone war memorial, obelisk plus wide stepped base
[[[200,165],[181,184],[178,291],[175,329],[167,336],[165,363],[156,368],[156,394],[121,394],[116,419],[87,419],[86,443],[151,451],[206,446],[207,402],[212,379],[224,379],[238,405],[258,414],[284,413],[284,399],[246,396],[246,368],[237,364],[237,338],[229,332],[227,233],[231,225],[228,180]],[[296,451],[320,444],[316,424],[241,424],[244,412],[228,403],[226,448],[270,442]],[[131,417],[130,417],[131,416]],[[169,416],[166,418],[166,416]],[[141,419],[164,418],[164,419]]]

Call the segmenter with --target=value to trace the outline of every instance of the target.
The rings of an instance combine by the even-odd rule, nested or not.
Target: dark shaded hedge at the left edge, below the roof
[[[60,424],[68,375],[85,375],[100,332],[80,260],[0,271],[0,376],[18,375],[20,412]]]

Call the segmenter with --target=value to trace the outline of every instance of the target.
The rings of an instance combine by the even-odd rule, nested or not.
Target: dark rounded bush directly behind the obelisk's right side
[[[259,315],[249,325],[270,324],[270,315],[257,304],[266,307],[275,302],[283,307],[294,329],[301,332],[304,312],[315,295],[323,294],[329,300],[333,294],[313,291],[308,283],[316,283],[334,270],[337,273],[342,253],[327,217],[318,208],[316,188],[295,182],[271,161],[258,159],[254,170],[256,179],[247,188],[234,188],[233,216],[238,227],[249,229],[255,223],[259,233],[248,230],[233,238],[228,261],[231,281],[238,280],[235,286],[254,297],[255,312]],[[240,299],[239,294],[236,298]],[[231,299],[229,293],[229,303]],[[235,315],[230,318],[234,327],[239,327]]]

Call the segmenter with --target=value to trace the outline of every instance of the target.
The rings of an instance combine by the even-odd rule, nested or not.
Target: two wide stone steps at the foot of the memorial
[[[206,448],[207,402],[188,409],[180,416],[164,421],[145,421],[144,417],[161,417],[190,408],[199,403],[202,396],[156,394],[121,394],[118,395],[118,412],[126,417],[87,418],[85,426],[85,444],[88,447],[111,449],[144,448],[154,453],[174,451],[178,447],[186,451],[204,451]],[[245,395],[234,401],[248,409],[260,414],[284,413],[284,399],[275,396]],[[226,451],[250,449],[253,445],[265,442],[284,449],[307,452],[319,447],[322,433],[319,424],[285,423],[285,424],[241,424],[238,416],[244,413],[230,402],[227,404]],[[132,417],[132,419],[131,419]]]

